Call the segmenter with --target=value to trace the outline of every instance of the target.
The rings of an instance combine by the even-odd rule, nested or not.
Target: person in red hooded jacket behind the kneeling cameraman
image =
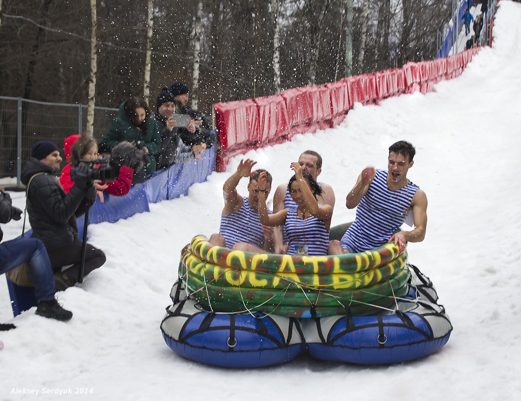
[[[132,184],[134,169],[139,171],[144,165],[142,161],[144,151],[135,150],[128,142],[121,142],[115,147],[115,160],[110,156],[98,157],[97,142],[88,134],[67,137],[64,141],[64,151],[69,164],[61,170],[60,184],[65,193],[69,193],[74,184],[71,173],[78,167],[80,160],[92,161],[95,162],[97,169],[94,172],[95,178],[100,178],[94,180],[94,187],[101,203],[103,203],[103,192],[115,196],[127,195]],[[75,156],[76,152],[79,158]]]

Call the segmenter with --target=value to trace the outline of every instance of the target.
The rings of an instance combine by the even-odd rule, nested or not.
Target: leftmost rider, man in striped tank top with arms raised
[[[245,250],[248,244],[264,250],[270,250],[272,245],[272,229],[261,224],[258,214],[258,176],[264,169],[252,172],[256,161],[241,160],[237,171],[226,180],[222,186],[225,207],[222,209],[221,223],[218,234],[212,234],[209,242],[213,245]],[[271,189],[271,174],[267,173],[268,185],[266,196]],[[248,196],[237,192],[237,185],[243,177],[249,177]]]

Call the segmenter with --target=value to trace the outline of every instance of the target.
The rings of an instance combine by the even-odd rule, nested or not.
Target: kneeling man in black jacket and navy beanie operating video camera
[[[82,242],[78,239],[76,217],[94,204],[96,189],[90,167],[80,164],[68,194],[55,174],[61,162],[58,147],[50,141],[36,142],[31,158],[23,167],[21,181],[28,185],[27,212],[32,236],[43,241],[54,271],[56,290],[63,291],[78,282]],[[31,182],[29,182],[31,181]],[[105,263],[105,254],[86,244],[84,275]],[[64,266],[72,265],[64,271]]]

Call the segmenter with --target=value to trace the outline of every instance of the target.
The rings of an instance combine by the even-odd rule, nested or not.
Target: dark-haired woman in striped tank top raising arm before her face
[[[333,208],[318,205],[316,196],[321,188],[298,162],[291,164],[295,175],[288,184],[296,207],[269,215],[266,207],[266,176],[259,175],[258,212],[261,223],[271,227],[282,225],[289,240],[288,255],[326,255]]]

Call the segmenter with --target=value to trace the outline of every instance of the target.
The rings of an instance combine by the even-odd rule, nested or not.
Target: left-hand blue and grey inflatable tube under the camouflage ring
[[[208,365],[253,368],[280,365],[301,353],[303,342],[295,318],[263,313],[226,314],[203,310],[184,295],[167,308],[161,322],[166,344],[177,354]]]

